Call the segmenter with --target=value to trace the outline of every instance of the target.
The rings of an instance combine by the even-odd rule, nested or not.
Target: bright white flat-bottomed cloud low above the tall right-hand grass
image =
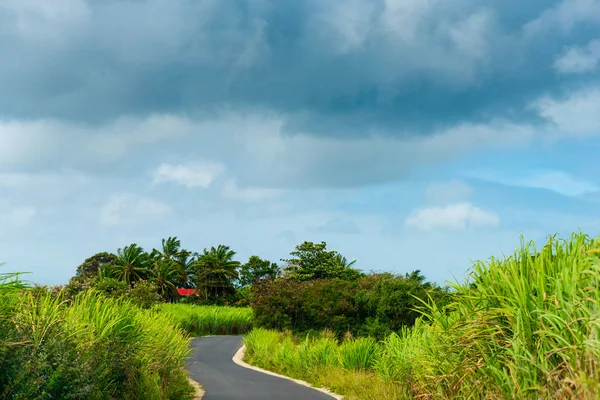
[[[500,217],[497,214],[465,202],[421,208],[413,211],[405,221],[406,227],[422,231],[495,228],[499,224]]]

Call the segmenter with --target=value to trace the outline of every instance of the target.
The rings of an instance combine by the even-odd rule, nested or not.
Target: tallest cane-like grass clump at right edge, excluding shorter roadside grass
[[[452,398],[598,398],[599,247],[574,234],[476,263],[473,284],[455,285],[453,311],[430,307],[433,323],[406,335],[423,346],[400,379]]]

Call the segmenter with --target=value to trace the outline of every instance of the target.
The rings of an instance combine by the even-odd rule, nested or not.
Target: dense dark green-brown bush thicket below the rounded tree
[[[424,303],[441,305],[448,296],[416,271],[408,276],[382,273],[352,280],[264,280],[254,285],[251,306],[260,327],[301,332],[330,329],[338,335],[383,338],[412,326]]]

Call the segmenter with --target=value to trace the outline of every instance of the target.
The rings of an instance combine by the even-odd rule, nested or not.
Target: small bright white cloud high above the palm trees
[[[161,164],[154,174],[154,184],[173,182],[206,189],[224,170],[225,167],[218,163]]]

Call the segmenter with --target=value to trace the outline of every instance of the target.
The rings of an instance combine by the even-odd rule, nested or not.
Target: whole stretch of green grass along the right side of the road
[[[247,361],[356,399],[597,399],[600,241],[474,264],[446,309],[380,343],[254,330]],[[366,388],[357,385],[361,382]]]

